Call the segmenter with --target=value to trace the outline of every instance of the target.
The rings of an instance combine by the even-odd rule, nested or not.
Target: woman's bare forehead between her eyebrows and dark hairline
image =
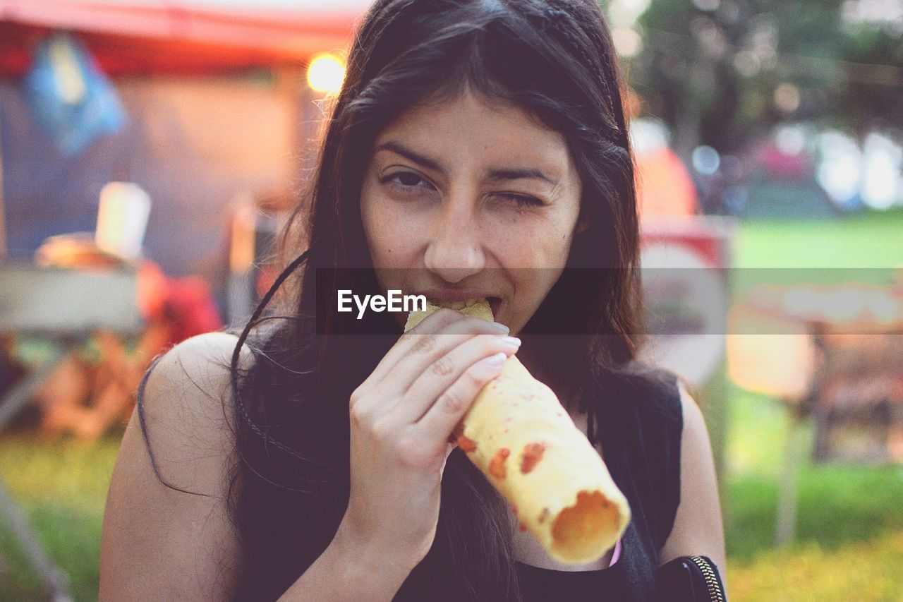
[[[556,179],[573,171],[563,136],[521,108],[468,92],[406,111],[377,136],[456,165],[535,166]]]

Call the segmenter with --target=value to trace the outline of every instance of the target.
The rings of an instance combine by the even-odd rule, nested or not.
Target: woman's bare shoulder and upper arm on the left
[[[144,431],[136,408],[107,494],[100,599],[228,598],[238,558],[227,514],[236,343],[232,334],[201,334],[149,372]],[[243,349],[242,367],[251,359]]]

